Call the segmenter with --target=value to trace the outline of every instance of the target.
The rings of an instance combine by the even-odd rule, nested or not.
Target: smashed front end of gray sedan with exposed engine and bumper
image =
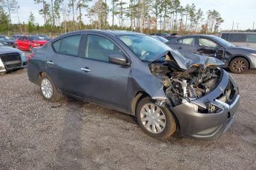
[[[151,72],[160,78],[167,99],[154,98],[174,113],[180,132],[186,137],[215,139],[232,124],[240,101],[233,78],[221,61],[200,55],[184,58],[165,52],[151,61]],[[161,59],[164,58],[164,59]]]

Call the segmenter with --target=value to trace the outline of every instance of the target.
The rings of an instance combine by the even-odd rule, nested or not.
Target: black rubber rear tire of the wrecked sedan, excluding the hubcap
[[[53,95],[51,96],[51,98],[45,98],[45,95],[42,93],[41,84],[42,84],[42,80],[44,78],[47,78],[47,80],[50,81],[50,84],[53,87]],[[45,100],[47,100],[47,101],[58,101],[60,99],[61,95],[60,95],[58,89],[56,88],[56,85],[54,84],[53,79],[50,78],[49,75],[44,74],[44,75],[42,75],[42,77],[39,78],[39,86],[40,86],[41,94],[45,98]]]

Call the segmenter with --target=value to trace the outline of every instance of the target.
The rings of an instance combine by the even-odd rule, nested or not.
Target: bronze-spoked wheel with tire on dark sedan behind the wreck
[[[240,74],[249,69],[249,63],[246,58],[234,58],[229,64],[229,69],[234,73]]]

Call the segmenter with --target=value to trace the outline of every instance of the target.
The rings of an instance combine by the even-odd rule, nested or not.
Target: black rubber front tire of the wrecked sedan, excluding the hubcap
[[[149,98],[149,97],[142,98],[142,100],[138,103],[137,111],[136,111],[137,112],[137,121],[138,121],[140,127],[142,128],[142,130],[146,134],[148,134],[151,137],[154,137],[156,139],[165,139],[165,138],[171,137],[171,135],[173,135],[177,129],[177,124],[175,122],[174,116],[171,114],[171,112],[167,108],[167,106],[160,107],[163,111],[163,114],[165,115],[165,120],[166,120],[166,125],[165,125],[165,129],[163,130],[163,132],[160,132],[159,134],[154,134],[152,132],[149,132],[147,129],[145,129],[145,127],[142,124],[141,118],[140,118],[140,110],[142,109],[142,106],[144,106],[146,103],[154,103],[154,101],[152,101],[151,98]]]

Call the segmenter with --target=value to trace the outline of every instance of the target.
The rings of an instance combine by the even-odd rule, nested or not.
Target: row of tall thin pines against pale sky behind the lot
[[[65,33],[72,30],[134,30],[140,33],[217,33],[223,23],[217,10],[180,4],[180,0],[30,0],[39,5],[44,23],[33,12],[20,21],[22,0],[0,0],[0,32]],[[13,24],[12,17],[18,18]]]

